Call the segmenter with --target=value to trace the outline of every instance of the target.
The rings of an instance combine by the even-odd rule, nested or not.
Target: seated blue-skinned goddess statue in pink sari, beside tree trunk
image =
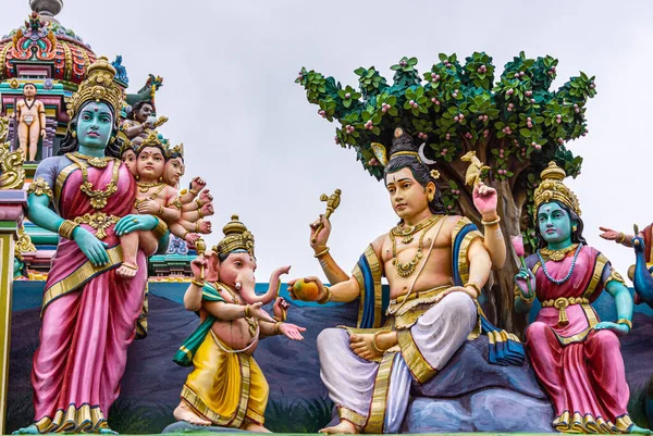
[[[553,426],[566,433],[650,433],[632,423],[619,336],[632,328],[632,298],[605,256],[589,247],[576,195],[555,163],[535,189],[539,249],[515,276],[515,310],[542,308],[527,331],[527,350],[553,400]],[[602,322],[591,303],[605,289],[618,320]]]

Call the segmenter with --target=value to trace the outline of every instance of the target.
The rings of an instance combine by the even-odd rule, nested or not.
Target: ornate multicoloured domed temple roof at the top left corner
[[[33,12],[25,24],[0,40],[0,80],[21,75],[22,68],[36,77],[42,68],[52,68],[50,77],[79,84],[97,57],[78,35],[54,18],[63,1],[30,0],[29,5]]]

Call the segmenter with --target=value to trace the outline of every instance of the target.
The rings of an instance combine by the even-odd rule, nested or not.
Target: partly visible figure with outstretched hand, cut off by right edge
[[[636,291],[634,302],[637,304],[645,302],[653,308],[653,224],[637,232],[636,235],[628,235],[607,227],[600,228],[603,231],[600,235],[603,239],[614,240],[634,249],[636,263],[628,269],[628,278],[632,281]]]

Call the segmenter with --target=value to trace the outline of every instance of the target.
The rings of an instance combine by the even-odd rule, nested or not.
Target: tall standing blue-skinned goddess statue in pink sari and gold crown
[[[107,419],[120,393],[147,282],[146,257],[125,281],[118,234],[168,228],[131,215],[136,183],[119,158],[122,89],[106,58],[90,65],[69,101],[60,155],[44,160],[28,188],[28,216],[61,236],[45,286],[40,345],[33,360],[35,423],[19,433],[114,433]],[[53,209],[50,209],[52,204]]]

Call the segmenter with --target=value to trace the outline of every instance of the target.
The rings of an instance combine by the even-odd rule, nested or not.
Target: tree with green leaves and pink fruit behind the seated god
[[[392,65],[393,84],[373,67],[358,68],[358,88],[343,87],[333,77],[301,68],[295,80],[304,86],[318,114],[337,121],[335,142],[353,148],[366,171],[378,179],[383,167],[373,142],[389,146],[395,127],[427,144],[427,157],[435,161],[445,207],[480,224],[471,189],[465,186],[469,151],[490,170],[485,183],[498,192],[497,212],[508,235],[522,234],[525,246],[537,247],[533,191],[540,172],[555,161],[567,175],[580,173],[582,158],[566,149],[569,140],[586,136],[586,104],[596,95],[594,77],[584,73],[551,90],[557,60],[527,59],[525,53],[508,62],[495,82],[492,58],[475,52],[460,64],[456,54],[440,54],[440,62],[421,76],[416,58]],[[513,261],[510,261],[513,259]],[[520,329],[523,320],[513,313],[513,277],[517,258],[494,273],[488,292],[488,315],[502,327]]]

